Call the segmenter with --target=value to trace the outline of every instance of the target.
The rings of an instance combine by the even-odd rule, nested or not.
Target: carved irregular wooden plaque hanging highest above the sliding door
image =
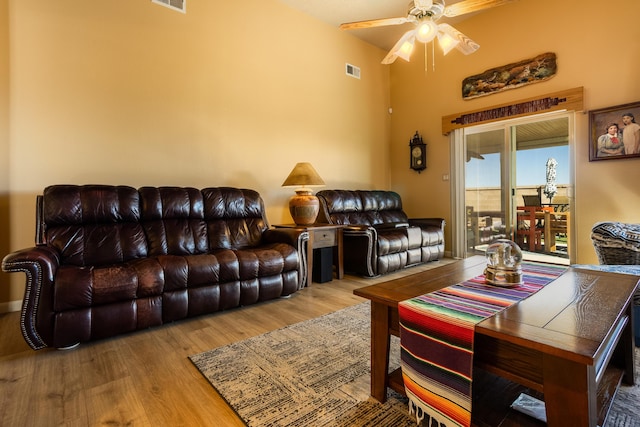
[[[472,99],[503,90],[549,80],[557,71],[556,54],[543,53],[502,67],[492,68],[462,81],[462,98]]]

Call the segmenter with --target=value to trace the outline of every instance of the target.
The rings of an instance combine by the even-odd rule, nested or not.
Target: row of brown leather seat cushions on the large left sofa
[[[165,299],[170,304],[175,304],[178,300],[178,305],[184,306],[180,311],[185,311],[186,316],[193,315],[189,304],[198,304],[196,295],[206,298],[205,294],[214,292],[195,289],[218,286],[221,283],[227,289],[227,283],[235,283],[230,285],[235,288],[228,288],[231,290],[227,294],[224,290],[218,290],[215,291],[215,296],[210,296],[210,306],[203,312],[211,312],[212,304],[220,306],[215,307],[217,310],[236,307],[243,299],[246,304],[266,299],[266,295],[261,295],[260,292],[270,294],[272,291],[258,289],[258,284],[260,280],[266,280],[263,278],[267,276],[274,276],[278,281],[277,290],[273,292],[277,291],[276,296],[279,296],[279,292],[285,287],[281,276],[287,276],[287,272],[290,272],[291,277],[287,280],[291,283],[287,283],[286,287],[295,291],[297,262],[295,248],[273,243],[237,251],[219,249],[211,254],[160,255],[104,267],[66,265],[58,270],[53,309],[61,312],[168,293],[169,296]],[[241,283],[245,284],[246,291]],[[254,285],[255,289],[251,289]],[[243,296],[243,292],[248,292],[248,295]],[[191,298],[188,298],[189,294],[193,294]],[[167,310],[172,311],[171,307],[163,307],[163,311]]]

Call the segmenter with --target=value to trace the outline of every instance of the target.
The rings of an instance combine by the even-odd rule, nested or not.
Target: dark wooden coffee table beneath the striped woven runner
[[[484,257],[467,258],[354,291],[371,300],[374,398],[384,402],[387,387],[404,394],[400,370],[387,374],[390,336],[399,335],[398,302],[480,275],[485,262]],[[544,393],[551,427],[602,425],[620,381],[633,384],[637,285],[636,276],[569,268],[536,294],[476,326],[474,371]],[[501,390],[496,393],[500,397]],[[508,411],[508,405],[484,407],[492,402],[504,404],[504,399],[485,399],[482,412]],[[478,420],[477,412],[474,425],[498,425],[495,419]],[[539,425],[526,416],[518,419],[520,425],[527,422]]]

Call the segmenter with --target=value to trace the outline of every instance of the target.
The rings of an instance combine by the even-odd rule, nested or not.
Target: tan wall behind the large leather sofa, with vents
[[[248,187],[271,223],[291,222],[299,161],[329,188],[388,188],[384,52],[276,0],[187,6],[9,0],[11,250],[50,184]],[[22,298],[11,276],[0,303]]]

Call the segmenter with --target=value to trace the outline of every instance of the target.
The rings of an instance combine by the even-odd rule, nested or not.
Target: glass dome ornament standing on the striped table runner
[[[522,282],[522,251],[515,242],[496,240],[487,247],[487,283],[496,286],[516,286]]]

